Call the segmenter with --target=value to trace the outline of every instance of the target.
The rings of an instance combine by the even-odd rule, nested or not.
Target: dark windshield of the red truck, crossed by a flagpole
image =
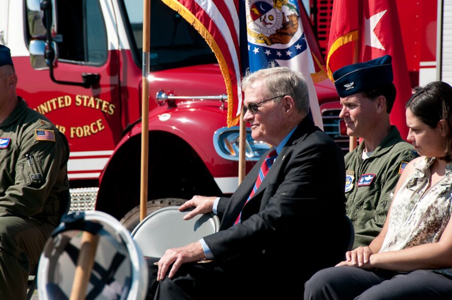
[[[143,59],[143,0],[124,0],[136,60]],[[151,1],[151,70],[216,63],[199,33],[178,13],[159,0]],[[133,49],[132,49],[133,50]]]

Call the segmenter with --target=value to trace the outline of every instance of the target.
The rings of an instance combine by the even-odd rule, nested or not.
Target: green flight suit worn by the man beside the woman
[[[346,213],[355,228],[353,249],[369,246],[380,233],[391,205],[391,193],[406,164],[418,154],[402,140],[396,126],[363,160],[364,143],[345,156]]]

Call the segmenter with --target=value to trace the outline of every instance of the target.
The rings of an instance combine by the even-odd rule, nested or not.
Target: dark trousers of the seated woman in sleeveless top
[[[452,279],[430,270],[400,274],[387,270],[331,267],[304,286],[304,299],[452,299]]]

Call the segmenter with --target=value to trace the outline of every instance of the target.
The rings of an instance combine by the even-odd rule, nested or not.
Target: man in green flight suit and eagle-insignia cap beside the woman
[[[389,113],[396,99],[391,57],[343,67],[333,73],[347,134],[363,139],[345,156],[347,215],[355,228],[353,249],[380,233],[392,192],[407,163],[417,157]],[[408,100],[408,99],[407,99]]]

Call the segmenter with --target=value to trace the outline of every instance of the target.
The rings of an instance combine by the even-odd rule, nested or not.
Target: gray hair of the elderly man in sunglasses
[[[269,67],[253,73],[247,72],[242,80],[242,90],[246,90],[256,81],[264,81],[268,96],[288,95],[294,98],[299,113],[309,112],[309,93],[306,80],[299,72],[288,67]],[[280,101],[277,98],[273,101]]]

